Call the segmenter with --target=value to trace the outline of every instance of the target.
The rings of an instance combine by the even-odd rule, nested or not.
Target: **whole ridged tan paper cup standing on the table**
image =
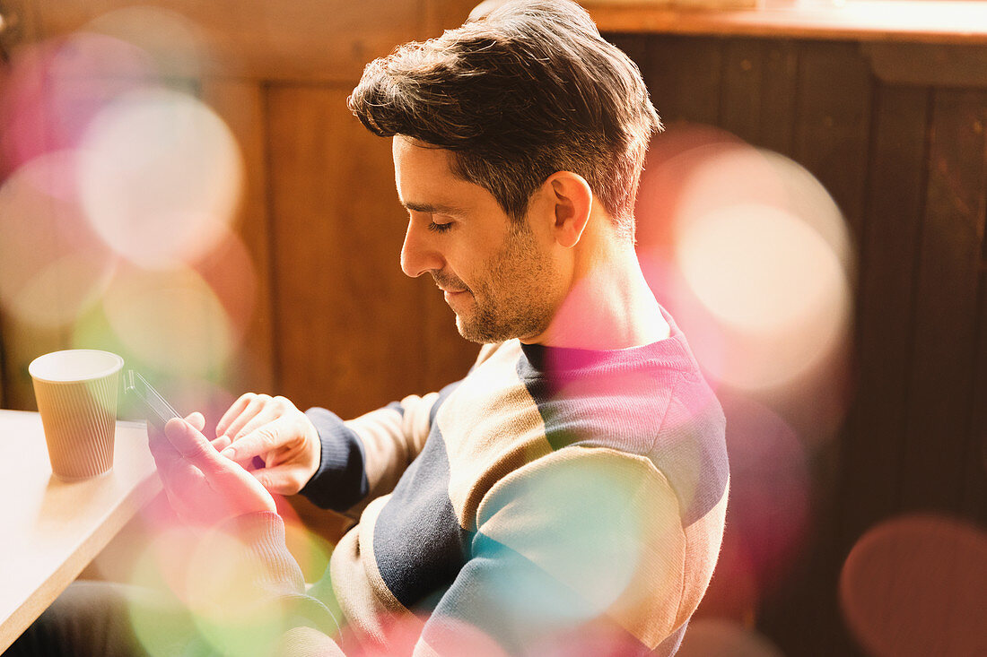
[[[114,467],[122,368],[122,358],[97,349],[52,351],[28,366],[51,472],[58,478],[84,479]]]

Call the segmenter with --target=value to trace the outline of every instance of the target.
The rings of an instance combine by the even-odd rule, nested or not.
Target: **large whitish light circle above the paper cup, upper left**
[[[244,174],[215,112],[178,92],[144,89],[95,117],[78,176],[83,208],[107,244],[141,266],[168,268],[225,237]]]

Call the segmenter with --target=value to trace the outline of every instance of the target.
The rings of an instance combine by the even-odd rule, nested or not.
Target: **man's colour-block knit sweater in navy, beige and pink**
[[[302,494],[358,522],[305,596],[279,519],[241,520],[266,591],[298,602],[291,645],[335,617],[347,653],[674,654],[729,472],[721,406],[666,320],[616,351],[487,345],[462,381],[353,420],[306,411],[322,460]]]

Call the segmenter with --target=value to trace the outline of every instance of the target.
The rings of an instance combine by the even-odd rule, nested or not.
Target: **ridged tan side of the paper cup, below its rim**
[[[35,380],[51,471],[59,478],[83,479],[114,467],[118,384],[119,370],[89,381]]]

